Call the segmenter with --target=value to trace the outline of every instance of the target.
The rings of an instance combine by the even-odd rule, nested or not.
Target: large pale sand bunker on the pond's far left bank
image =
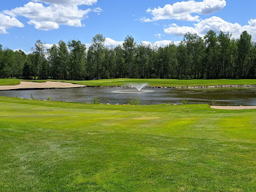
[[[14,90],[14,89],[40,89],[40,88],[76,88],[86,87],[86,85],[78,85],[64,82],[20,82],[18,85],[1,85],[0,90]]]

